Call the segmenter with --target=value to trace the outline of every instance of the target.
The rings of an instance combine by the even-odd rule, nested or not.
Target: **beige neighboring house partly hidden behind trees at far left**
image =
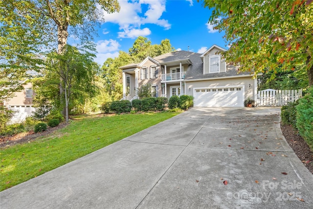
[[[4,101],[3,105],[16,111],[11,122],[22,122],[27,116],[32,115],[33,108],[33,98],[35,93],[32,89],[32,84],[23,81],[24,90],[21,92],[16,92],[15,95],[8,101]]]

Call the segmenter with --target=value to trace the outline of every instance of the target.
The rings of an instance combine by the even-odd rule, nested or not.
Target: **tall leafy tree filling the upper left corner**
[[[21,86],[16,88],[21,77],[43,67],[38,59],[40,52],[57,48],[57,53],[63,54],[69,35],[79,37],[81,42],[90,40],[94,26],[104,22],[101,9],[112,13],[120,7],[117,0],[0,1],[0,32],[4,37],[0,41],[0,87],[6,89],[1,94],[21,90]],[[62,95],[63,70],[59,68]]]

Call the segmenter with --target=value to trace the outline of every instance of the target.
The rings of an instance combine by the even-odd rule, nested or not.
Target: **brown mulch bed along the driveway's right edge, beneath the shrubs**
[[[291,125],[281,125],[280,128],[294,153],[313,174],[313,151],[309,145]]]

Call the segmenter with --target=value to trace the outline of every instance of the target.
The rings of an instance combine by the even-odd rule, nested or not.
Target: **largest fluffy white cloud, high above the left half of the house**
[[[118,33],[118,37],[136,38],[134,37],[135,35],[138,37],[151,34],[149,28],[140,28],[143,24],[156,24],[166,30],[171,28],[168,20],[161,19],[163,12],[166,11],[165,3],[165,0],[139,0],[131,2],[121,0],[119,1],[121,6],[119,13],[108,14],[103,10],[103,14],[106,22],[117,23],[119,25],[121,32]],[[142,11],[142,6],[148,7],[147,11]]]

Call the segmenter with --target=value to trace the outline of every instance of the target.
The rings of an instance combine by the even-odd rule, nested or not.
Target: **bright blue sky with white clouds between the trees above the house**
[[[224,33],[208,25],[211,11],[197,0],[119,0],[119,13],[106,14],[105,23],[94,37],[97,45],[95,61],[101,66],[118,51],[128,52],[138,36],[152,44],[169,39],[177,50],[202,53],[216,44],[227,48]]]

